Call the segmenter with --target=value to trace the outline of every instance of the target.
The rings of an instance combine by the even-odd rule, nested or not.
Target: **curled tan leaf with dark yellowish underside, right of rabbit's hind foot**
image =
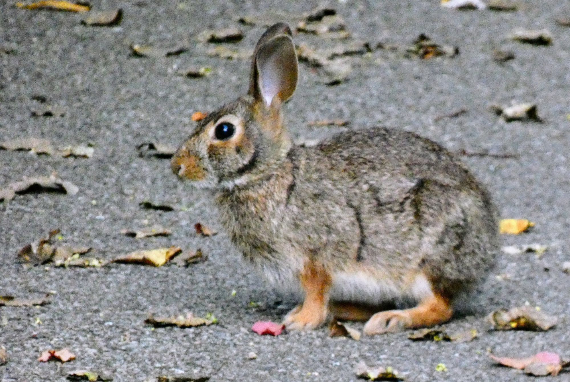
[[[538,308],[522,306],[511,310],[500,309],[487,316],[494,330],[549,330],[556,325],[556,317],[544,314]]]

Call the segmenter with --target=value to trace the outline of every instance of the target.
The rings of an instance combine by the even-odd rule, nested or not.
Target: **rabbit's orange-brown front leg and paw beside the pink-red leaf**
[[[331,275],[317,262],[308,261],[299,275],[305,299],[289,312],[283,324],[289,330],[308,330],[321,326],[327,319]]]

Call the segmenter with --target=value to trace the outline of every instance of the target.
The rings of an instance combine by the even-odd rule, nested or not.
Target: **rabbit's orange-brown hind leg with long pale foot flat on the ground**
[[[364,333],[373,335],[434,326],[448,321],[451,315],[453,309],[449,299],[434,294],[421,300],[414,308],[376,313],[365,324]]]

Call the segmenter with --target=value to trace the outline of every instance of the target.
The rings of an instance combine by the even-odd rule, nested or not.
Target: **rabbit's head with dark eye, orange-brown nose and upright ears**
[[[174,155],[173,173],[198,188],[233,188],[274,172],[291,147],[281,107],[297,78],[291,30],[277,23],[255,46],[248,94],[198,123]]]

